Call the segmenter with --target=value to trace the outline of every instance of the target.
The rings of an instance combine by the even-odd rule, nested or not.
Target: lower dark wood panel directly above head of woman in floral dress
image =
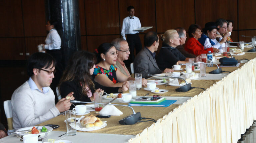
[[[103,36],[87,36],[88,51],[94,52],[102,43],[111,43],[115,38],[120,38],[119,35],[103,35]]]

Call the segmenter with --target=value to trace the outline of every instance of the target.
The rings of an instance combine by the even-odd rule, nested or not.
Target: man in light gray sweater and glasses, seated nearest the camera
[[[35,53],[27,62],[29,80],[18,87],[12,94],[13,127],[19,128],[35,126],[56,117],[60,112],[68,110],[71,99],[62,98],[54,102],[54,93],[49,87],[55,73],[55,60],[46,53]]]

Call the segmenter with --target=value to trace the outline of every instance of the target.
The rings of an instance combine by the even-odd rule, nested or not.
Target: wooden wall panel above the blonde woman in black
[[[157,33],[195,23],[194,0],[156,0]]]

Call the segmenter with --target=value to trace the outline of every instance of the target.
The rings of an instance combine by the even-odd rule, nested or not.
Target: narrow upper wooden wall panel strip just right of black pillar
[[[86,35],[85,28],[85,13],[84,13],[84,0],[79,0],[79,20],[80,20],[80,34]]]

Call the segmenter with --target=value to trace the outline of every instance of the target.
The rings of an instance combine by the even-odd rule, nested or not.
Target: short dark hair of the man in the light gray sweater
[[[51,68],[55,66],[56,61],[50,54],[41,52],[34,53],[27,61],[28,76],[31,77],[34,75],[33,69],[48,69],[52,64],[53,66]]]

